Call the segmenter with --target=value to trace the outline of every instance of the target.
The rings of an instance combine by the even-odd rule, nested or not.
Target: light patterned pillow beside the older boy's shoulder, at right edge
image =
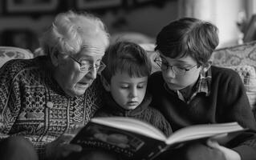
[[[249,98],[250,106],[256,107],[256,72],[254,66],[224,66],[238,72],[246,88],[246,94]]]

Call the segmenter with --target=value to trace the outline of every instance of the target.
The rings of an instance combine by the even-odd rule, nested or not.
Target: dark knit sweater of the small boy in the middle
[[[149,122],[152,126],[163,131],[165,135],[173,133],[169,122],[158,110],[148,106],[151,102],[151,97],[146,94],[144,100],[134,110],[124,110],[112,98],[111,94],[104,94],[104,102],[106,105],[95,113],[95,117],[130,117],[137,118],[144,122]]]

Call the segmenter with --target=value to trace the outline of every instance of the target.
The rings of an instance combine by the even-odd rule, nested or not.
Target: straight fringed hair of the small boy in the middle
[[[106,68],[102,75],[111,81],[116,72],[128,72],[131,77],[144,77],[151,74],[151,62],[146,51],[133,42],[116,42],[108,47],[102,61]]]

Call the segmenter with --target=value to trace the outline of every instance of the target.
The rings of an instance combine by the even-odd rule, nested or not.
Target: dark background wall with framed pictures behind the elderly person
[[[39,46],[39,35],[51,25],[55,14],[62,11],[83,11],[91,5],[88,10],[102,18],[111,34],[139,32],[152,38],[156,37],[162,26],[177,18],[178,13],[177,0],[161,2],[156,0],[98,0],[97,3],[87,0],[52,0],[39,1],[48,2],[49,8],[40,9],[40,6],[44,7],[44,4],[31,3],[30,6],[27,6],[27,10],[25,1],[20,4],[11,4],[12,7],[9,9],[6,8],[10,5],[7,2],[16,1],[0,2],[0,6],[2,6],[0,10],[0,46],[20,46],[30,50],[35,50]],[[55,2],[59,2],[59,4]],[[83,2],[87,2],[87,4],[83,4]],[[18,5],[21,7],[17,7]]]

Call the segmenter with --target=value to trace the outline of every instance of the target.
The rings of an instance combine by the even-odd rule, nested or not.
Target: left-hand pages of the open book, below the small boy
[[[148,122],[142,122],[135,118],[124,117],[104,117],[104,118],[91,118],[91,122],[99,123],[106,126],[112,126],[122,130],[132,131],[136,134],[142,134],[150,138],[165,141],[165,134],[161,130],[152,126]]]

